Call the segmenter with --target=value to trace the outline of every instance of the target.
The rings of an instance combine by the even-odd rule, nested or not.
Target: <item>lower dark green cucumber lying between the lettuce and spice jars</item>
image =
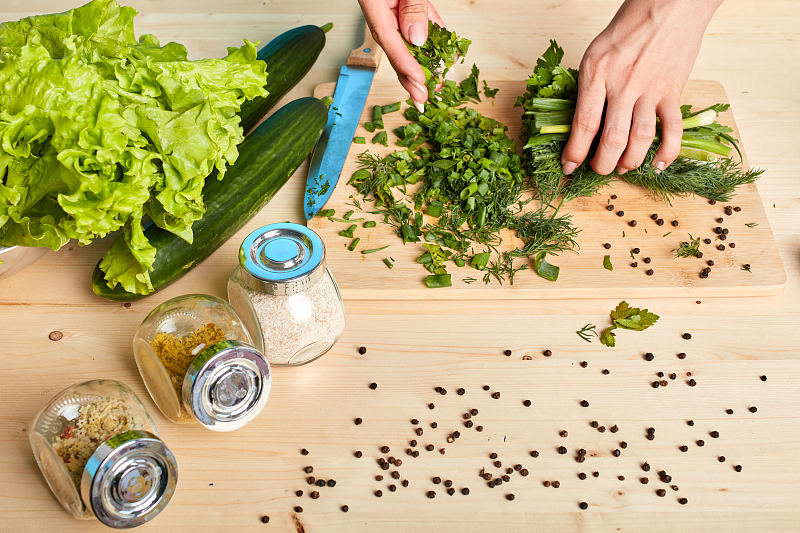
[[[225,177],[218,180],[211,175],[206,180],[206,213],[192,226],[192,244],[155,225],[148,227],[145,236],[157,250],[150,270],[153,292],[201,263],[258,213],[311,153],[327,119],[326,102],[300,98],[253,130],[239,145],[239,158]],[[92,289],[98,296],[118,302],[145,297],[129,293],[120,285],[109,288],[104,276],[98,263],[92,275]]]

